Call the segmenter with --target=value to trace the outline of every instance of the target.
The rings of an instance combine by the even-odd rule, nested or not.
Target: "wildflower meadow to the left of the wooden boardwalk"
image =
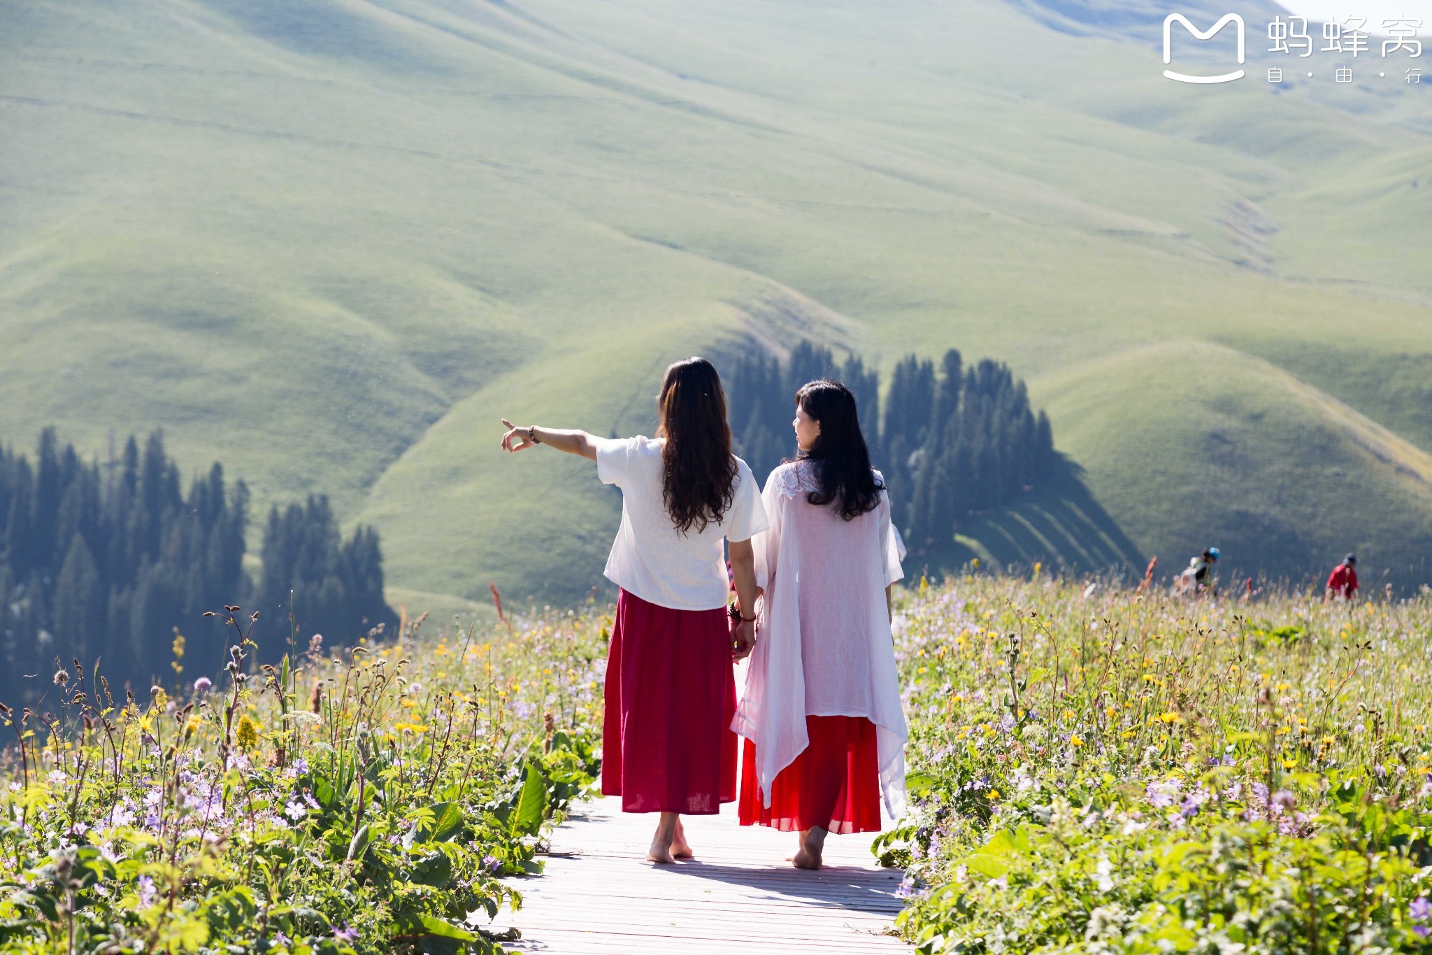
[[[597,770],[600,621],[420,619],[275,657],[252,614],[205,617],[172,679],[76,660],[3,710],[0,949],[500,952],[483,926]]]

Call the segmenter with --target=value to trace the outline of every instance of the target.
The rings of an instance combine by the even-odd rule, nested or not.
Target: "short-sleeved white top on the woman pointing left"
[[[607,556],[607,580],[647,603],[673,610],[726,606],[730,580],[722,538],[750,540],[766,511],[750,467],[736,458],[730,507],[706,530],[676,530],[662,497],[664,440],[596,438],[597,477],[621,488],[621,525]]]

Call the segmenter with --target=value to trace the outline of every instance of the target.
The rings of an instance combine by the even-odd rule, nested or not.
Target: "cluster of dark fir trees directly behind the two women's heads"
[[[879,375],[851,355],[802,342],[785,362],[729,362],[729,414],[739,454],[758,477],[795,454],[795,394],[835,378],[855,395],[861,430],[889,488],[892,518],[916,551],[948,544],[972,517],[1048,481],[1058,465],[1048,415],[1022,381],[990,359],[965,367],[951,348],[937,364],[908,355],[881,401]]]

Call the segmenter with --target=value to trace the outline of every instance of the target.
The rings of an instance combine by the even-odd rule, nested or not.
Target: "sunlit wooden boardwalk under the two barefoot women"
[[[825,868],[786,862],[793,833],[736,825],[735,810],[686,816],[695,859],[643,861],[656,816],[624,815],[620,800],[573,808],[553,833],[538,878],[521,879],[521,929],[511,952],[557,955],[732,955],[733,952],[909,952],[886,935],[901,911],[902,875],[879,869],[871,833],[826,839]]]

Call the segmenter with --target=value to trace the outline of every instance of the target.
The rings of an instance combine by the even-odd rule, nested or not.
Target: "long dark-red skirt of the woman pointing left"
[[[601,793],[621,796],[621,812],[720,812],[736,800],[735,714],[726,610],[672,610],[620,591]]]

